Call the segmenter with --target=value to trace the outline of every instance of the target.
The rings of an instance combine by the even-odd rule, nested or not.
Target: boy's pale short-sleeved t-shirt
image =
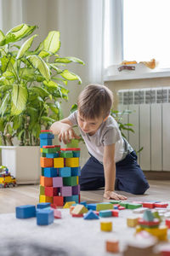
[[[72,125],[78,125],[77,111],[71,113],[68,119],[71,121]],[[103,163],[105,146],[115,143],[116,162],[124,159],[127,154],[133,151],[133,148],[122,137],[117,122],[111,115],[99,126],[98,131],[96,131],[92,136],[83,132],[79,126],[78,128],[84,142],[86,143],[89,154],[92,154],[101,163]]]

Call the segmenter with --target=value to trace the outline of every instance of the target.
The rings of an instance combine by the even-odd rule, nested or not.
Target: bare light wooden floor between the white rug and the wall
[[[82,191],[81,201],[101,202],[107,201],[103,198],[103,189],[94,191]],[[0,213],[14,212],[15,207],[38,203],[39,186],[38,185],[19,185],[16,188],[0,189]],[[127,195],[128,201],[169,201],[170,202],[170,181],[150,181],[150,189],[145,195]]]

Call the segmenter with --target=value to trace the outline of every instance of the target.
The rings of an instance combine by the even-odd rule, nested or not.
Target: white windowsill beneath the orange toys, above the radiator
[[[124,72],[124,73],[123,73]],[[137,73],[136,71],[122,71],[118,74],[105,75],[104,81],[121,81],[132,79],[156,79],[156,78],[170,78],[170,69],[157,69],[156,71]]]

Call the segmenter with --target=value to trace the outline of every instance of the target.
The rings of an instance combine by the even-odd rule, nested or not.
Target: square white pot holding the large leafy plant
[[[39,146],[0,146],[2,164],[16,178],[18,184],[39,183],[40,147]]]

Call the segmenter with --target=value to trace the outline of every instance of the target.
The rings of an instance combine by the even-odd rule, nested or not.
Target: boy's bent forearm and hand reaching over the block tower
[[[58,135],[59,142],[63,141],[63,143],[71,143],[72,138],[79,139],[80,137],[77,136],[75,131],[72,129],[72,123],[69,119],[62,119],[60,121],[54,122],[51,125],[50,130]]]

